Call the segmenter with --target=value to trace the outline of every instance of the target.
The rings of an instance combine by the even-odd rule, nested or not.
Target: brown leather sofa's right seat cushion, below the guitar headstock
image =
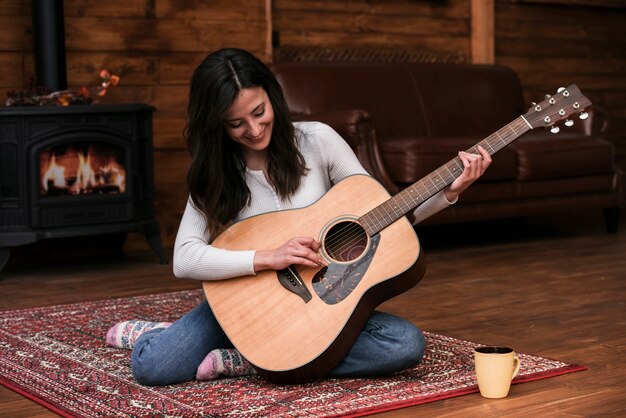
[[[611,173],[613,144],[597,137],[532,132],[511,144],[520,180],[555,179]]]

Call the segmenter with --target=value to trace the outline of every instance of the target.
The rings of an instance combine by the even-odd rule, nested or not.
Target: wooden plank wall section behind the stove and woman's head
[[[2,92],[22,89],[35,73],[30,10],[28,0],[0,2]],[[69,88],[95,85],[107,68],[121,82],[101,102],[157,108],[155,211],[164,244],[171,246],[187,195],[182,130],[189,78],[208,52],[225,46],[268,59],[266,1],[65,0],[64,13]],[[127,247],[147,245],[130,234]]]

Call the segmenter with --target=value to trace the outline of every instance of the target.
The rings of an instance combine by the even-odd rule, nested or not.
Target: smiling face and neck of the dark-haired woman
[[[263,169],[272,138],[274,109],[262,87],[242,89],[226,112],[228,136],[243,146],[248,168]],[[261,167],[258,167],[263,163]]]

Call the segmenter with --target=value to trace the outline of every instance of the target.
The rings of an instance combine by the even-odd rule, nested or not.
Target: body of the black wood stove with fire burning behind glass
[[[152,112],[143,104],[0,108],[0,270],[12,247],[138,232],[154,219]]]

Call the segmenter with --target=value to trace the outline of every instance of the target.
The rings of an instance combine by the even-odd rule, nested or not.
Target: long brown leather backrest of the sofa
[[[299,62],[270,65],[290,110],[366,110],[378,138],[482,137],[520,114],[519,79],[475,64]]]

